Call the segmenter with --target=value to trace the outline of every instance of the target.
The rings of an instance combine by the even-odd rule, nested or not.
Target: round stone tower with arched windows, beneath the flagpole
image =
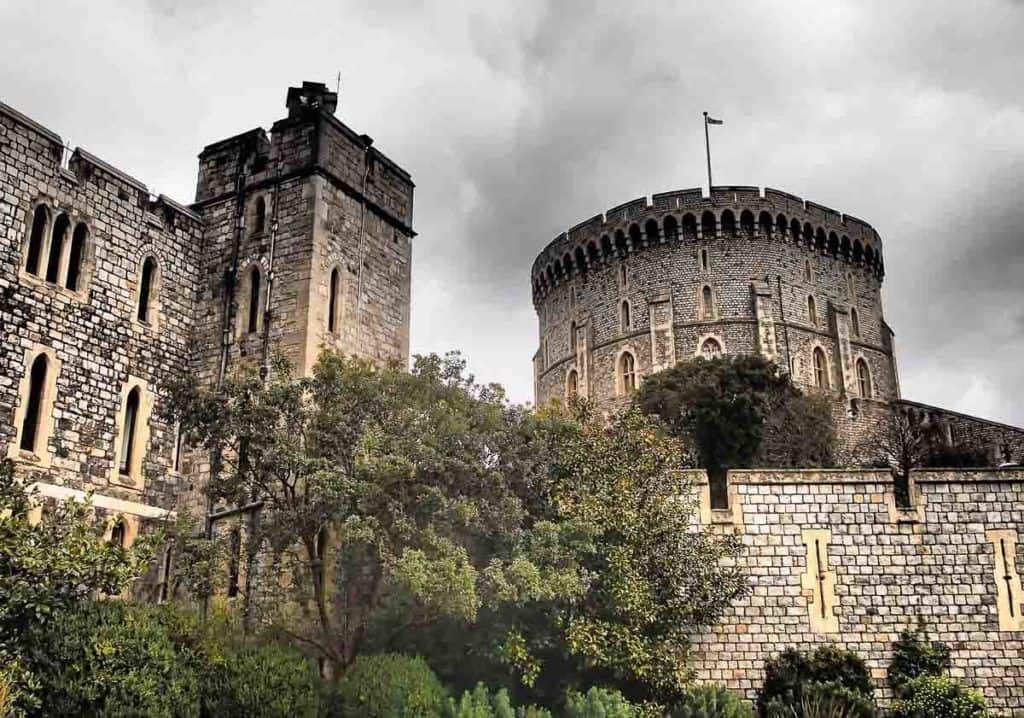
[[[865,221],[777,189],[641,198],[556,237],[532,267],[536,400],[629,400],[694,356],[760,353],[837,400],[841,438],[899,397],[882,310],[882,239]]]

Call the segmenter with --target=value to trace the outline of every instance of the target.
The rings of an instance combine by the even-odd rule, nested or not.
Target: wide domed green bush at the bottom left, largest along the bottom
[[[198,716],[202,684],[154,606],[85,604],[36,631],[27,667],[43,715]]]

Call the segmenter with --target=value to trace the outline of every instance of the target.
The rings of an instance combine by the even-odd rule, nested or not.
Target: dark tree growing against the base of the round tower
[[[823,399],[807,397],[763,356],[695,358],[644,379],[637,398],[684,440],[725,504],[725,472],[767,463],[830,466],[836,429]]]

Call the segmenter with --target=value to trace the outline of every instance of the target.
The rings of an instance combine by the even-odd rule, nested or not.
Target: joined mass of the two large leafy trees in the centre
[[[339,673],[404,649],[460,688],[511,669],[526,702],[609,682],[667,702],[689,635],[745,588],[738,541],[693,530],[679,444],[639,412],[527,414],[457,355],[274,376],[184,384],[171,411],[219,457],[215,496],[262,502],[249,549],[272,559],[247,571],[247,611]]]

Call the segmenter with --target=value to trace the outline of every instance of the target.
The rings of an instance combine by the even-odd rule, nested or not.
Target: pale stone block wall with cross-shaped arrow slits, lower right
[[[910,511],[887,471],[733,471],[712,511],[701,473],[701,521],[742,537],[752,591],[696,636],[700,681],[754,699],[765,660],[836,643],[885,701],[892,642],[923,617],[954,678],[1024,715],[1024,470],[915,471]]]

